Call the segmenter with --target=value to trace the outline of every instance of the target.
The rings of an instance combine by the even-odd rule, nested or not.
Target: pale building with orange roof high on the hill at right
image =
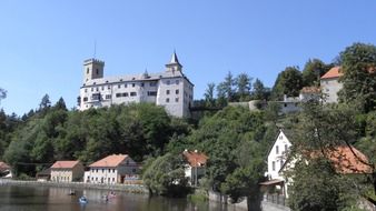
[[[325,102],[332,103],[338,101],[338,91],[343,84],[338,79],[343,76],[340,67],[334,67],[320,78],[321,92],[326,100]]]

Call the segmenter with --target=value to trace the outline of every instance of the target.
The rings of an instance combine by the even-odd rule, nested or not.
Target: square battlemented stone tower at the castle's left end
[[[83,61],[83,83],[92,79],[103,78],[105,62],[97,59]]]

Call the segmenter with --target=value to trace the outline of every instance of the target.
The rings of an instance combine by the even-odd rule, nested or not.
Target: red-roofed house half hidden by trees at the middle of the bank
[[[185,173],[186,178],[188,178],[188,183],[196,187],[198,184],[198,180],[205,175],[208,157],[197,150],[192,152],[185,150],[182,155],[187,161]]]

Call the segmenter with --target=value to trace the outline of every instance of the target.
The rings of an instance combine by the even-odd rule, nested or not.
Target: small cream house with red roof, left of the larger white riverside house
[[[56,161],[51,167],[51,181],[73,182],[81,181],[83,165],[80,161]]]

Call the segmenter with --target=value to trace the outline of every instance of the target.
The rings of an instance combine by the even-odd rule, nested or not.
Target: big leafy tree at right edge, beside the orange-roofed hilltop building
[[[357,102],[366,112],[376,109],[376,47],[354,43],[340,53],[342,102]]]

